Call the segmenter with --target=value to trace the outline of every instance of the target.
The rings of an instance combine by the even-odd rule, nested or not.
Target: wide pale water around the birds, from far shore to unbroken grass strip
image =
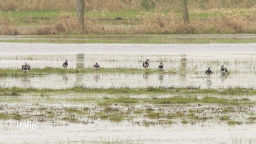
[[[255,44],[205,44],[205,45],[143,45],[143,44],[26,44],[0,43],[0,67],[19,68],[25,62],[32,68],[61,67],[64,59],[69,68],[77,67],[76,54],[85,54],[82,65],[92,67],[98,62],[105,68],[142,68],[146,58],[150,69],[164,62],[165,70],[178,74],[50,74],[45,76],[0,77],[0,85],[12,87],[67,88],[84,85],[89,88],[187,86],[220,88],[229,86],[255,87]],[[79,61],[81,62],[81,61]],[[224,64],[230,74],[222,76]],[[207,79],[205,71],[211,67],[213,74]],[[50,83],[47,83],[49,82]]]

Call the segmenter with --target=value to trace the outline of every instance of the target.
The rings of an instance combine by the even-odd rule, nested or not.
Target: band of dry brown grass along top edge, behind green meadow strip
[[[252,8],[253,0],[188,0],[188,9]],[[168,9],[180,10],[181,0],[86,0],[87,10]],[[0,0],[0,10],[76,10],[76,0]]]

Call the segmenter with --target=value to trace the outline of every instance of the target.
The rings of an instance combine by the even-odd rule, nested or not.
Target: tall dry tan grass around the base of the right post
[[[255,33],[255,21],[243,16],[233,15],[226,18],[192,19],[183,23],[174,13],[164,15],[158,12],[143,16],[143,24],[137,33],[152,34],[193,34],[193,33]]]

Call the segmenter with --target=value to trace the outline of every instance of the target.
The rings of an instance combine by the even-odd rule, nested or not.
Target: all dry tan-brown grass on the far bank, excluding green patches
[[[61,1],[61,2],[60,2]],[[86,0],[87,11],[120,11],[123,9],[151,9],[137,16],[137,23],[113,25],[111,21],[101,21],[96,16],[87,16],[85,31],[82,31],[76,17],[69,11],[76,10],[76,0],[0,0],[0,10],[61,10],[62,14],[53,25],[40,25],[33,31],[22,31],[1,20],[1,35],[18,34],[201,34],[201,33],[256,33],[256,1],[247,0],[189,0],[189,13],[194,15],[219,14],[214,18],[191,18],[183,23],[178,17],[180,0]],[[236,9],[239,8],[239,9]],[[246,9],[244,9],[246,8]],[[249,9],[250,8],[250,9]],[[249,9],[249,10],[248,10]],[[169,11],[166,14],[166,11]],[[224,15],[224,16],[223,16]],[[103,17],[104,18],[104,17]]]

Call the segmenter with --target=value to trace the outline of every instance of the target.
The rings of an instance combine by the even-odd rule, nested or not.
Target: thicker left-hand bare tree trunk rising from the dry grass
[[[85,0],[77,0],[77,16],[80,26],[82,27],[82,32],[84,32],[84,5]]]

